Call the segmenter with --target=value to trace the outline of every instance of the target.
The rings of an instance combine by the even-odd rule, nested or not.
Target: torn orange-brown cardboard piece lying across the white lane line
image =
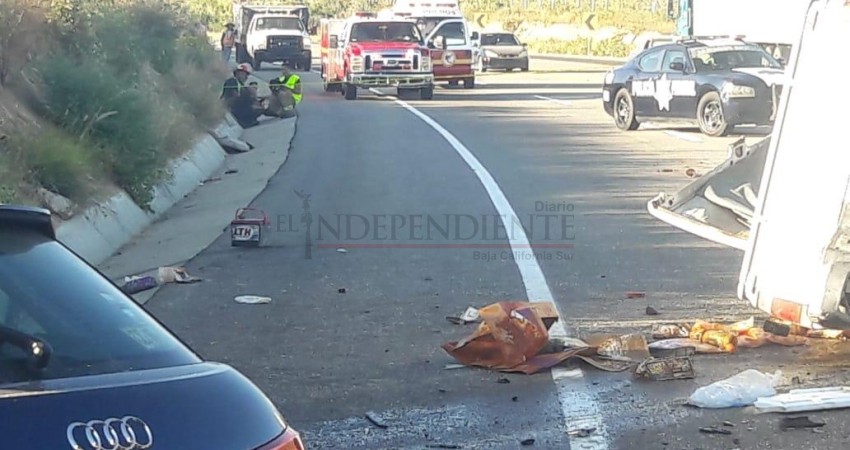
[[[619,372],[631,365],[626,361],[594,358],[597,352],[591,347],[539,354],[549,343],[549,328],[558,320],[552,304],[508,301],[488,305],[478,313],[481,324],[472,334],[442,345],[443,350],[466,366],[532,375],[573,358],[606,371]]]

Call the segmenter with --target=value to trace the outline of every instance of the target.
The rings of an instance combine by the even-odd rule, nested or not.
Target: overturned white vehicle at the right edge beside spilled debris
[[[850,127],[841,87],[850,1],[814,0],[768,138],[648,203],[656,218],[743,252],[738,297],[808,328],[850,329]]]

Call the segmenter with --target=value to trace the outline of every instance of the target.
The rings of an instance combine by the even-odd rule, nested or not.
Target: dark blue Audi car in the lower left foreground
[[[304,450],[235,369],[201,359],[56,239],[0,206],[0,448]]]

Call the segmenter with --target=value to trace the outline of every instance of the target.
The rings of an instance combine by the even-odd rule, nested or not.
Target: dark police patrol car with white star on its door
[[[641,121],[694,121],[708,136],[771,125],[782,63],[737,38],[687,38],[648,48],[605,75],[602,102],[621,130]]]

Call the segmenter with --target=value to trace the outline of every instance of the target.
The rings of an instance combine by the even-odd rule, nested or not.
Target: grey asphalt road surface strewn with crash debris
[[[546,64],[406,101],[492,175],[569,329],[648,332],[654,322],[754,314],[734,298],[741,254],[645,208],[658,192],[686,184],[688,168],[705,173],[722,161],[733,138],[651,125],[621,133],[601,110],[603,69]],[[814,434],[778,431],[777,415],[679,404],[745,368],[780,369],[801,386],[843,383],[846,350],[832,343],[700,356],[691,381],[579,366],[604,423],[607,445],[595,446],[570,442],[564,411],[576,405],[562,404],[548,373],[445,369],[454,361],[440,345],[474,329],[446,315],[526,296],[504,234],[496,234],[497,209],[456,149],[419,117],[391,98],[364,92],[345,101],[322,92],[318,75],[304,78],[289,160],[254,203],[274,218],[267,245],[231,248],[222,235],[187,265],[206,282],[166,286],[147,307],[203,356],[255,380],[310,448],[512,449],[529,438],[535,448],[829,448],[846,439],[840,413],[812,414],[827,421]],[[541,211],[548,206],[555,211]],[[547,232],[540,216],[557,225]],[[424,226],[429,220],[449,231]],[[626,291],[647,297],[628,300]],[[273,300],[233,301],[248,294]],[[648,305],[662,314],[647,317]],[[732,435],[698,431],[723,421],[736,425]]]

